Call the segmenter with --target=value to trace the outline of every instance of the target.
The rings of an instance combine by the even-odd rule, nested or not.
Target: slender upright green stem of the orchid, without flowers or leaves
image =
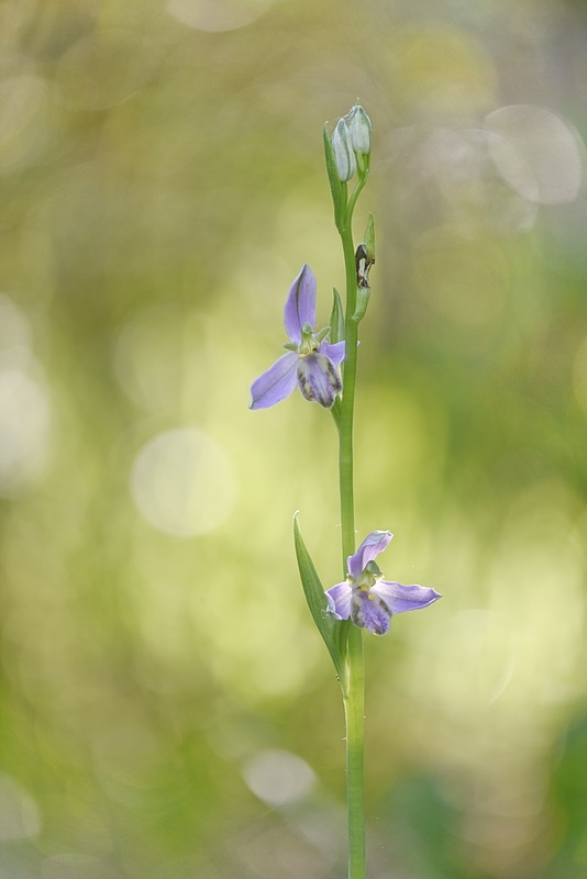
[[[362,187],[361,187],[362,188]],[[357,187],[358,189],[358,187]],[[355,552],[355,511],[353,486],[353,418],[357,359],[358,326],[353,320],[356,305],[356,266],[351,229],[352,209],[358,191],[352,197],[346,223],[341,230],[346,270],[344,391],[339,422],[339,475],[343,577],[346,558]],[[348,879],[365,879],[365,809],[363,794],[364,754],[364,666],[363,631],[352,623],[346,653],[344,713],[346,722],[346,803],[348,819]]]

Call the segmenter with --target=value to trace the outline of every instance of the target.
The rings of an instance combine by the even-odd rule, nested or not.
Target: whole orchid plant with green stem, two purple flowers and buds
[[[365,879],[363,630],[384,635],[394,614],[425,608],[440,594],[427,587],[383,579],[375,559],[389,544],[392,537],[389,531],[372,532],[355,553],[353,419],[358,326],[369,302],[375,234],[369,214],[364,241],[355,249],[352,222],[369,173],[370,120],[356,104],[347,116],[339,120],[332,136],[326,126],[323,134],[334,222],[344,256],[345,304],[334,290],[330,325],[317,330],[315,278],[309,266],[302,266],[284,310],[289,337],[284,344],[286,354],[253,382],[251,408],[272,407],[297,387],[306,400],[332,412],[337,429],[343,580],[324,591],[302,541],[297,515],[294,539],[308,607],[342,689],[346,722],[348,879]],[[352,180],[355,183],[348,193]]]

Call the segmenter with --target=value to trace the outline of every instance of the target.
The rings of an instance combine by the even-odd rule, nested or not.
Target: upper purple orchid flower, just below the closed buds
[[[289,342],[284,345],[287,354],[279,357],[266,372],[251,386],[251,409],[268,409],[289,397],[296,387],[302,397],[324,409],[334,405],[342,391],[336,367],[344,359],[344,342],[330,345],[326,340],[330,327],[320,332],[315,322],[315,277],[307,265],[291,285],[284,324]]]

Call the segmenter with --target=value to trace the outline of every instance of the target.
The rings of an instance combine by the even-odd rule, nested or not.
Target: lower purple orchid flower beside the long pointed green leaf
[[[392,536],[389,531],[374,531],[354,556],[348,556],[346,580],[326,590],[326,612],[331,619],[351,619],[374,635],[385,635],[395,613],[428,608],[442,598],[424,586],[402,586],[383,579],[375,559]]]

